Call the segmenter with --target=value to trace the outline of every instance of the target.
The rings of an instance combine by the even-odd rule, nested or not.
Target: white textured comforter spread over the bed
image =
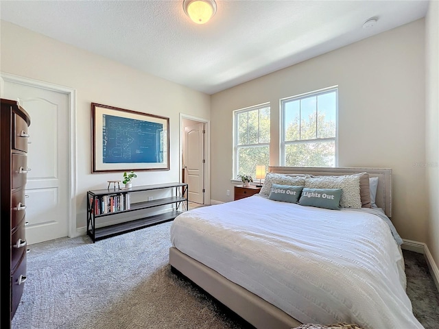
[[[171,243],[304,324],[423,328],[405,293],[400,249],[370,213],[254,195],[179,215]]]

